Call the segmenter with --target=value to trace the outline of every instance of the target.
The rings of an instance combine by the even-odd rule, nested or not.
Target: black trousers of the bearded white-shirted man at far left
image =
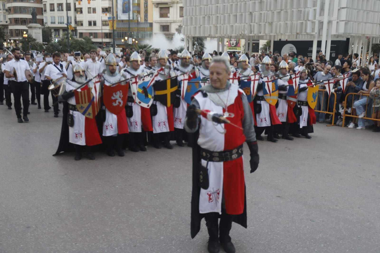
[[[21,97],[22,97],[22,114],[28,115],[29,109],[29,84],[25,82],[11,82],[11,89],[13,92],[14,109],[16,110],[17,118],[21,118]]]

